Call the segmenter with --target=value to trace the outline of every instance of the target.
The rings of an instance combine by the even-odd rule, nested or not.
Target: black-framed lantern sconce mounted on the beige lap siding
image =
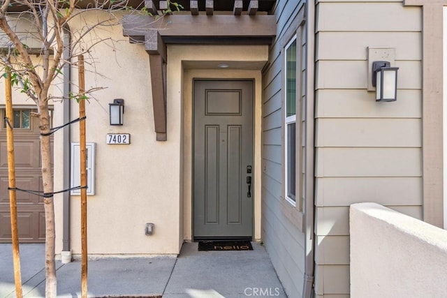
[[[397,70],[388,61],[372,63],[372,86],[376,87],[376,101],[396,101]]]

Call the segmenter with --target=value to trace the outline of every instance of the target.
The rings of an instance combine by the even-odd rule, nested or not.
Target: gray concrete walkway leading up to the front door
[[[265,248],[198,251],[184,244],[180,255],[89,260],[89,297],[286,297]],[[24,297],[45,296],[45,248],[21,244]],[[80,261],[57,261],[58,297],[80,297]],[[15,297],[10,244],[0,244],[0,297]]]

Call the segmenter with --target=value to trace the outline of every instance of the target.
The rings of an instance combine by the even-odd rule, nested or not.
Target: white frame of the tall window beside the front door
[[[291,45],[295,42],[295,46],[297,49],[297,65],[295,67],[296,70],[296,74],[295,74],[295,80],[298,80],[298,71],[300,71],[298,69],[298,59],[300,59],[300,57],[298,57],[298,36],[297,34],[295,34],[291,40],[286,44],[286,46],[284,47],[284,156],[285,156],[285,161],[284,161],[284,196],[285,199],[287,200],[287,202],[289,202],[290,204],[292,204],[294,207],[296,207],[296,200],[297,200],[297,196],[299,195],[297,193],[298,191],[298,187],[296,185],[295,182],[295,198],[291,197],[288,195],[289,191],[289,185],[288,185],[288,169],[289,169],[289,156],[288,156],[288,125],[289,124],[293,124],[295,123],[295,133],[296,130],[300,128],[300,126],[298,126],[296,124],[296,114],[297,114],[297,110],[298,110],[298,106],[297,106],[297,101],[295,98],[295,114],[291,115],[291,116],[287,116],[287,78],[288,78],[288,71],[287,71],[287,50],[289,47],[291,47]],[[298,89],[296,89],[296,91],[298,92]],[[298,96],[298,94],[297,94]],[[296,150],[298,150],[299,148],[297,148],[296,146],[296,135],[295,135],[295,181],[296,181],[296,175],[297,175],[297,170],[299,170],[297,168],[297,165],[299,163],[296,163]]]

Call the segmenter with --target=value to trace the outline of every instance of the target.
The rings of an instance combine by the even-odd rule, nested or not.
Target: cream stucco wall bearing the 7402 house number
[[[87,13],[71,24],[78,31],[98,22],[105,13]],[[149,56],[143,45],[129,43],[122,26],[93,31],[82,47],[95,45],[85,56],[85,87],[103,87],[87,103],[87,142],[96,143],[96,194],[88,198],[88,237],[91,254],[147,254],[179,252],[181,121],[179,104],[168,103],[168,141],[156,142],[152,110]],[[74,88],[78,70],[72,69]],[[124,98],[124,125],[109,125],[109,107]],[[71,104],[72,118],[78,104]],[[130,133],[131,144],[106,144],[107,133]],[[78,126],[72,126],[78,142]],[[57,148],[54,149],[57,151]],[[153,236],[145,223],[154,223]],[[71,198],[71,247],[80,253],[80,200]],[[59,233],[58,233],[59,235]]]

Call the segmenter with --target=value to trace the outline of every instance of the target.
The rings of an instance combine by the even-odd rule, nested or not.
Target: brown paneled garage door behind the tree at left
[[[3,119],[5,110],[0,112]],[[38,118],[31,117],[31,112],[29,109],[14,110],[16,187],[42,191]],[[8,243],[11,229],[6,124],[2,123],[0,127],[0,243]],[[17,191],[17,222],[21,243],[45,242],[43,198]]]

